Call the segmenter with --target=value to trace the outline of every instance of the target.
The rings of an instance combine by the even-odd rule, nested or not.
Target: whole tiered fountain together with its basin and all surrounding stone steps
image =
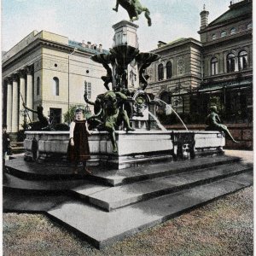
[[[25,160],[6,164],[4,210],[47,212],[101,248],[252,183],[251,167],[223,155],[223,133],[184,124],[185,131],[166,131],[160,124],[160,104],[180,117],[145,91],[146,68],[160,56],[139,51],[137,28],[127,20],[115,24],[113,49],[92,57],[107,71],[108,90],[96,102],[84,94],[95,109],[88,119],[92,174],[68,166],[68,131],[26,131]]]

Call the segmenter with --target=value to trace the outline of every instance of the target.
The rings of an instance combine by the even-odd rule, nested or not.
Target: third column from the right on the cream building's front
[[[12,108],[12,132],[19,131],[19,96],[18,76],[13,75],[13,108]]]

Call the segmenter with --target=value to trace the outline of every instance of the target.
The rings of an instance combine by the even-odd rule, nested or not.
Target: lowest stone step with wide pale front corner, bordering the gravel
[[[47,213],[97,248],[102,248],[252,183],[252,172],[241,173],[112,212],[100,211],[80,201],[66,201]]]

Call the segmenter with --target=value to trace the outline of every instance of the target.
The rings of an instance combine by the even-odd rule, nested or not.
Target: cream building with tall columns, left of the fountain
[[[24,123],[24,108],[44,107],[44,115],[63,113],[72,105],[84,105],[84,90],[90,100],[105,91],[101,64],[92,55],[106,53],[102,45],[79,43],[46,31],[33,31],[3,55],[3,123],[8,132],[17,133]],[[29,113],[27,121],[37,119]]]

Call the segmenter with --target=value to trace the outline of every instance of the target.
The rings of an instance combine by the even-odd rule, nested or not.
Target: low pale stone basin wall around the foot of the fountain
[[[190,159],[221,154],[224,136],[218,131],[116,131],[118,153],[113,154],[107,131],[89,137],[89,166],[123,169],[154,161]],[[25,160],[55,166],[68,165],[68,131],[26,131]]]

